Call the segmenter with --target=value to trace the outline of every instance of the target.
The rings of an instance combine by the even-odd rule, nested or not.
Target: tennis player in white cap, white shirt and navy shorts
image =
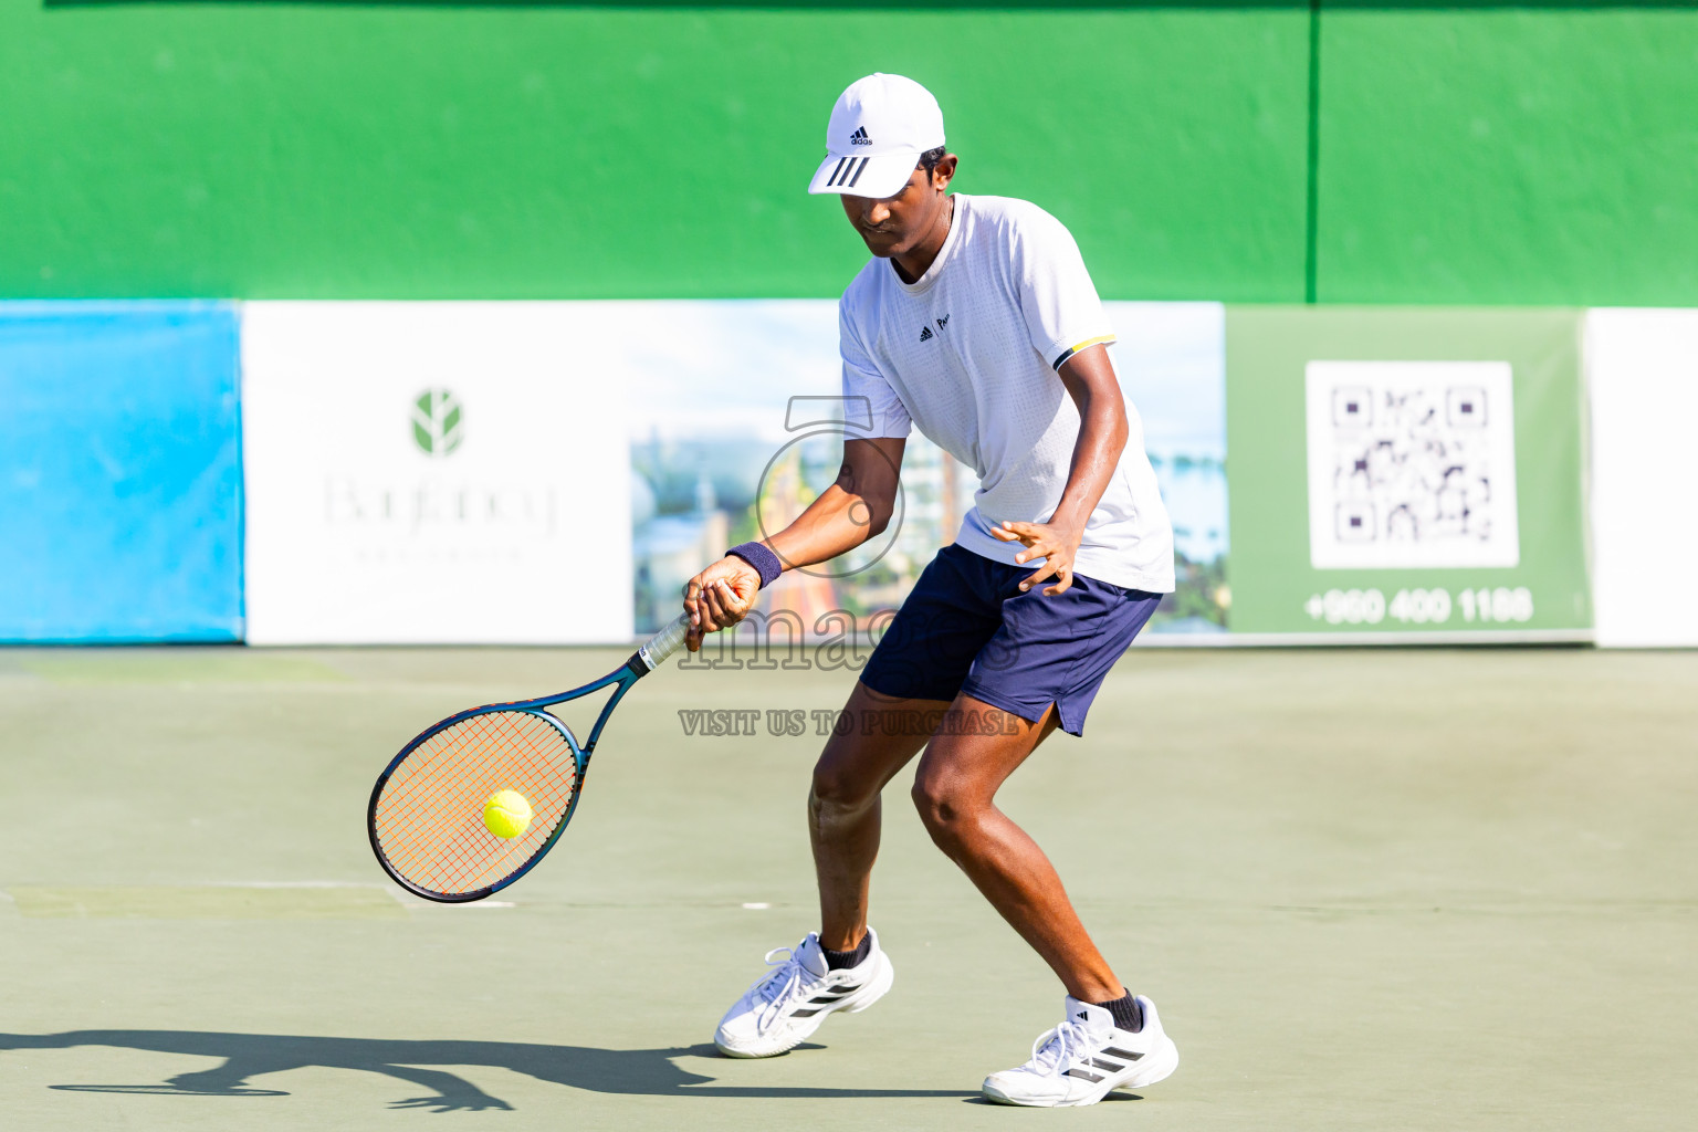
[[[767,954],[713,1040],[771,1057],[890,989],[868,927],[880,791],[920,755],[914,803],[932,840],[1066,988],[1061,1023],[1026,1064],[990,1074],[985,1096],[1090,1105],[1163,1079],[1178,1051],[995,796],[1051,731],[1082,733],[1102,679],[1173,589],[1172,528],[1066,227],[1024,200],[951,193],[937,100],[898,75],[842,93],[827,151],[808,192],[837,193],[873,253],[839,304],[842,390],[873,426],[844,441],[837,482],[793,524],[689,582],[689,648],[740,621],[783,570],[883,531],[914,424],[980,489],[849,694],[852,726],[813,767],[820,930]],[[1102,830],[1109,845],[1122,835]]]

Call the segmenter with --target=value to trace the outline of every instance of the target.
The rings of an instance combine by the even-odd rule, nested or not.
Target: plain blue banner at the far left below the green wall
[[[0,302],[0,640],[243,636],[236,309]]]

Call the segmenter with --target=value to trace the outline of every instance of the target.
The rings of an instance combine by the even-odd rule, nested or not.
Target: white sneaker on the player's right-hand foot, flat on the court
[[[1066,998],[1066,1018],[1032,1042],[1032,1059],[985,1078],[985,1098],[998,1105],[1095,1105],[1109,1090],[1143,1088],[1178,1068],[1178,1047],[1161,1030],[1156,1005],[1138,996],[1144,1028],[1114,1028],[1102,1006]]]

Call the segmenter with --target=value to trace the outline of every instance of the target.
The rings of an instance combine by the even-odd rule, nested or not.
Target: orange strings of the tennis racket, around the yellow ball
[[[511,789],[531,806],[514,838],[484,825],[484,803]],[[372,825],[389,864],[408,881],[464,894],[525,866],[565,818],[577,789],[577,760],[565,737],[530,711],[462,720],[418,745],[389,776]]]

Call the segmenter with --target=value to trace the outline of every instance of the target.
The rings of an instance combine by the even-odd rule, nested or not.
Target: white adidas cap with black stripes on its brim
[[[902,75],[868,75],[849,83],[832,124],[825,153],[808,192],[895,197],[908,183],[920,154],[944,144],[944,112],[932,92]]]

